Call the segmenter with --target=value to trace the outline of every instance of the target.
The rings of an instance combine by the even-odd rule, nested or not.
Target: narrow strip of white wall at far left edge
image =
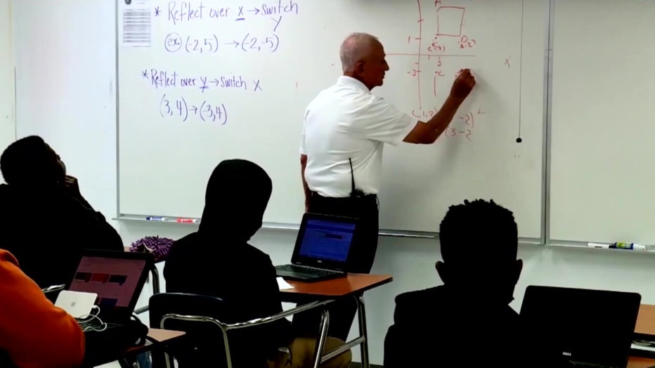
[[[2,148],[11,143],[16,135],[11,39],[11,1],[0,0],[0,147]]]

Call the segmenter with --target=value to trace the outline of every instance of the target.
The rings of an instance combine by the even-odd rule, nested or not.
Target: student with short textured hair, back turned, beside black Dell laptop
[[[451,206],[439,241],[443,285],[396,297],[384,367],[514,367],[519,315],[509,304],[523,262],[512,212],[480,199]]]

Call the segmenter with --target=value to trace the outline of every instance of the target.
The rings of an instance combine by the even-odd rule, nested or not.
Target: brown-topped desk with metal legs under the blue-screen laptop
[[[362,368],[369,368],[368,362],[368,334],[366,332],[366,313],[364,308],[364,291],[379,287],[380,285],[391,282],[393,277],[390,275],[368,275],[350,273],[346,277],[325,280],[319,282],[297,282],[289,281],[293,289],[280,290],[282,300],[289,303],[306,303],[308,299],[313,301],[335,300],[337,298],[354,297],[357,301],[357,315],[359,321],[359,337],[348,341],[341,348],[337,348],[320,357],[323,351],[325,337],[328,334],[328,325],[330,317],[327,310],[323,310],[323,319],[320,324],[320,337],[317,343],[316,353],[314,355],[315,367],[318,367],[321,361],[330,359],[359,345],[361,349]]]

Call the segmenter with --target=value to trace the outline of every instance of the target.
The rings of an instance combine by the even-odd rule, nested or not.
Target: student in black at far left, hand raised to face
[[[39,136],[9,145],[0,156],[2,247],[39,287],[72,279],[84,249],[123,251],[102,213],[79,192],[77,179]]]

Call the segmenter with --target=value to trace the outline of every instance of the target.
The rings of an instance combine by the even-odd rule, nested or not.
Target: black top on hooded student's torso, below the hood
[[[267,254],[247,243],[232,244],[226,239],[222,244],[207,247],[205,241],[195,232],[173,244],[164,266],[167,292],[223,299],[231,311],[228,320],[221,320],[225,323],[282,312],[275,268]],[[201,249],[210,249],[210,253]],[[209,339],[217,338],[221,336]],[[267,357],[293,339],[287,320],[235,330],[228,338],[235,367],[264,367]],[[212,351],[207,354],[212,355]]]

